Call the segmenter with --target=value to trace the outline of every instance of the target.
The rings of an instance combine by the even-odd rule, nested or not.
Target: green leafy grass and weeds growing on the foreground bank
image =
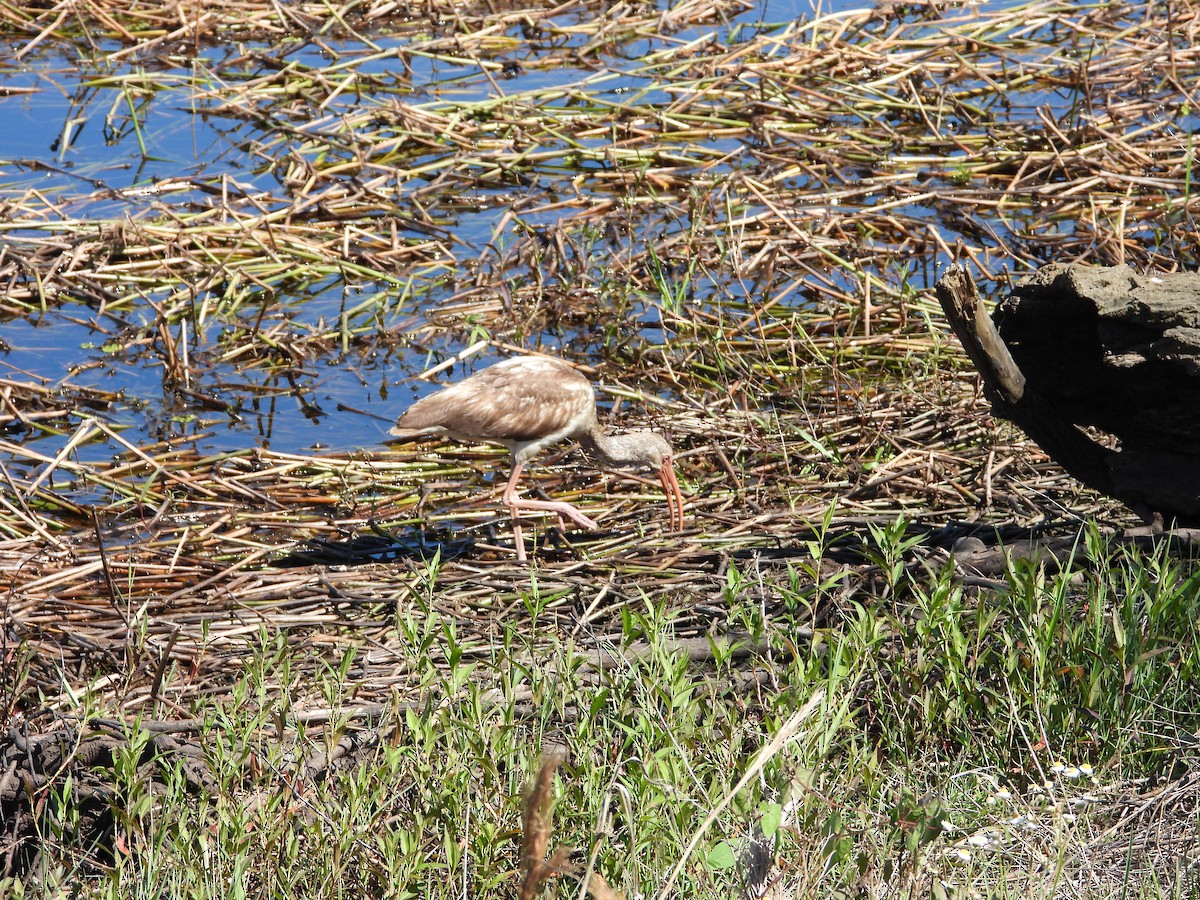
[[[1193,794],[1174,781],[1200,727],[1183,688],[1195,564],[1111,552],[1093,532],[1062,571],[1013,563],[980,589],[914,558],[901,528],[871,541],[865,568],[821,583],[820,553],[731,568],[707,636],[647,598],[566,635],[574,617],[538,593],[484,641],[436,605],[409,610],[384,643],[316,672],[317,635],[263,634],[226,702],[179,737],[202,787],[131,722],[107,773],[110,830],[89,848],[72,840],[88,775],[60,773],[41,883],[511,894],[528,865],[522,785],[551,754],[538,846],[564,848],[539,876],[556,895],[588,871],[626,896],[1151,895],[1116,846],[1154,782],[1175,793],[1140,803],[1195,835]],[[364,706],[355,673],[384,660],[391,695]],[[1138,839],[1162,854],[1139,853],[1144,874],[1184,890],[1168,864],[1178,835]]]

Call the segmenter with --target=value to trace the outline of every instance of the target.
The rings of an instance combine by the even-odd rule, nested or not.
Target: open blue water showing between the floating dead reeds
[[[1002,10],[1012,0],[948,6],[946,18],[962,19],[979,17],[986,12]],[[660,0],[660,6],[661,6]],[[353,136],[355,127],[347,122],[366,122],[358,119],[373,113],[377,121],[372,128],[382,127],[389,116],[396,114],[395,103],[402,102],[419,110],[454,115],[462,103],[475,103],[494,98],[528,95],[544,98],[550,89],[560,89],[563,95],[542,104],[541,112],[568,114],[576,100],[572,89],[586,90],[594,103],[655,103],[668,107],[679,100],[677,90],[666,90],[664,82],[644,59],[653,53],[688,41],[720,41],[730,46],[749,41],[757,35],[776,34],[796,22],[866,10],[862,2],[817,2],[812,0],[763,0],[720,25],[683,29],[662,38],[636,37],[613,41],[601,52],[584,54],[577,65],[539,68],[538,59],[546,53],[565,53],[583,48],[589,38],[554,36],[527,40],[516,26],[510,29],[511,49],[497,50],[490,58],[504,64],[505,68],[485,73],[478,65],[461,65],[414,55],[408,65],[401,65],[392,53],[406,44],[407,36],[371,35],[371,44],[359,44],[346,40],[323,38],[323,43],[300,42],[282,56],[258,55],[264,48],[245,43],[227,43],[203,47],[194,58],[181,55],[175,67],[146,67],[132,55],[115,64],[106,62],[106,54],[121,49],[120,44],[103,44],[85,56],[80,47],[58,44],[53,40],[42,43],[35,52],[17,59],[19,46],[0,46],[0,84],[8,94],[0,94],[0,202],[24,197],[36,190],[47,204],[53,205],[46,223],[49,230],[16,229],[0,220],[2,233],[10,239],[44,239],[53,233],[55,218],[76,218],[96,222],[119,222],[124,217],[167,217],[173,210],[194,211],[220,203],[221,196],[242,198],[239,210],[266,211],[275,204],[269,196],[284,193],[284,179],[289,164],[296,172],[314,154],[329,154],[335,158],[353,161],[356,149]],[[1133,8],[1133,7],[1130,7]],[[942,28],[932,7],[913,6],[901,13],[914,20],[928,22],[929,34]],[[1135,11],[1129,13],[1135,16]],[[564,16],[562,24],[571,24],[571,14]],[[883,32],[892,25],[882,19],[872,28]],[[925,28],[925,25],[923,25]],[[1045,50],[1034,40],[1052,37],[1078,44],[1079,55],[1090,53],[1090,38],[1074,31],[1049,34],[1044,26],[1028,35],[1030,60],[1036,64]],[[820,48],[817,48],[820,49]],[[565,58],[565,56],[564,56]],[[340,83],[353,71],[355,83],[346,83],[346,89],[320,109],[312,109],[298,101],[290,108],[263,108],[247,116],[244,109],[227,103],[227,95],[217,88],[250,84],[266,78],[278,66],[294,66],[311,71],[313,79]],[[674,65],[674,64],[672,64]],[[743,76],[752,78],[751,73]],[[670,79],[676,82],[676,78]],[[955,90],[971,86],[955,85]],[[1060,121],[1070,119],[1079,92],[1069,88],[1044,91],[996,94],[988,92],[988,85],[979,82],[978,100],[973,101],[994,115],[1004,119],[1024,119],[1037,125],[1036,110],[1044,108]],[[772,88],[775,90],[776,88]],[[821,85],[834,91],[836,85]],[[325,97],[324,92],[320,96]],[[931,95],[932,97],[932,95]],[[704,97],[697,102],[708,103]],[[769,102],[769,97],[764,101]],[[930,101],[931,104],[934,100]],[[1183,136],[1200,128],[1196,110],[1162,109],[1165,116]],[[260,115],[260,118],[258,118]],[[864,121],[863,113],[847,108],[830,140],[845,139],[853,134]],[[649,126],[638,126],[649,127]],[[953,134],[956,127],[953,115],[941,120],[940,127]],[[334,136],[336,140],[314,149],[308,138],[314,134]],[[694,152],[694,169],[702,170],[714,160],[722,160],[720,172],[736,173],[748,168],[750,154],[800,154],[810,146],[820,146],[820,134],[804,133],[794,140],[788,136],[774,136],[770,140],[740,139],[716,136],[712,139],[692,139],[691,148],[682,145],[677,152]],[[619,136],[617,136],[619,140]],[[518,208],[521,227],[545,229],[563,216],[574,216],[578,210],[569,206],[532,211],[536,204],[523,204],[528,196],[554,192],[569,194],[583,191],[596,200],[616,196],[614,182],[605,180],[613,170],[637,172],[652,161],[618,160],[608,155],[613,136],[596,134],[577,142],[564,140],[557,145],[541,145],[539,151],[552,152],[552,158],[536,167],[536,185],[520,185],[505,179],[503,173],[492,175],[484,186],[472,186],[461,203],[440,203],[436,210],[436,227],[419,223],[420,193],[422,182],[414,180],[403,186],[390,186],[395,192],[396,233],[400,239],[457,241],[469,248],[461,258],[478,258],[481,265],[499,265],[497,262],[506,242],[512,239],[511,210]],[[432,142],[428,146],[397,148],[398,158],[406,166],[418,163],[434,167],[451,152],[449,146]],[[902,148],[896,149],[902,154]],[[782,163],[781,163],[782,164]],[[924,197],[929,192],[953,194],[954,154],[947,152],[942,161],[929,163],[923,173],[926,180],[920,185],[905,185],[917,199],[900,204],[898,216],[938,228],[942,238],[953,244],[959,234],[971,234],[966,226],[956,224],[953,210],[938,197]],[[814,180],[803,168],[781,178],[776,188],[794,191],[796,221],[802,228],[816,228],[828,211],[853,212],[893,198],[877,193],[853,194],[848,200],[830,200],[829,191],[851,190],[869,172],[845,172],[838,184]],[[434,175],[431,175],[433,178]],[[383,190],[383,188],[380,188]],[[649,190],[649,188],[647,188]],[[262,194],[262,199],[256,199]],[[619,199],[619,196],[618,196]],[[752,216],[762,211],[751,203],[736,216]],[[1019,233],[1032,228],[1055,228],[1069,233],[1070,223],[1037,223],[997,217],[983,223],[990,236],[984,246],[1002,251],[1009,241],[1019,240]],[[636,248],[646,234],[677,234],[689,226],[686,211],[649,212],[638,220],[643,232],[618,235],[590,235],[590,244],[581,241],[577,247],[578,264],[592,271],[602,269],[606,258],[617,248]],[[733,236],[736,228],[730,229]],[[0,235],[2,236],[2,235]],[[847,236],[847,246],[836,247],[838,254],[862,253],[851,246],[853,235]],[[876,248],[886,248],[887,235],[874,236]],[[974,240],[980,240],[974,235]],[[1153,240],[1147,234],[1147,240]],[[214,251],[220,254],[220,250]],[[924,289],[936,277],[937,265],[944,262],[936,251],[905,264],[904,270],[880,268],[881,276],[890,281],[907,280],[914,289]],[[506,277],[532,277],[529,266],[505,270]],[[863,256],[862,265],[875,271],[870,254]],[[892,264],[887,264],[890,266]],[[299,377],[281,374],[283,370],[270,360],[228,358],[222,344],[223,331],[230,328],[269,331],[272,326],[286,328],[301,337],[317,334],[326,325],[341,320],[352,324],[367,322],[380,331],[380,338],[400,336],[406,338],[420,332],[427,316],[434,316],[439,305],[456,293],[469,287],[469,272],[449,269],[431,258],[427,264],[402,272],[392,282],[364,282],[354,272],[331,272],[317,283],[277,281],[272,292],[253,283],[240,286],[247,292],[236,316],[211,320],[199,335],[192,334],[193,359],[197,383],[190,390],[228,404],[227,410],[198,408],[185,397],[163,389],[161,354],[155,342],[146,337],[146,330],[155,322],[155,305],[167,301],[163,294],[143,295],[136,286],[112,288],[114,296],[128,298],[125,305],[106,308],[100,313],[95,304],[66,302],[35,312],[24,318],[0,323],[0,337],[7,352],[0,353],[0,376],[13,378],[41,378],[49,383],[70,380],[74,384],[95,385],[104,390],[121,391],[127,402],[114,413],[113,424],[127,428],[131,439],[146,438],[194,439],[202,451],[211,452],[242,446],[271,446],[284,451],[314,448],[352,449],[378,448],[389,420],[415,395],[428,390],[424,383],[410,382],[413,374],[422,371],[443,355],[451,355],[461,346],[434,343],[422,336],[419,340],[350,341],[346,347],[313,352],[299,371]],[[545,277],[559,286],[565,294],[571,290],[569,271],[547,274]],[[853,290],[844,272],[832,268],[827,274],[836,287]],[[730,283],[730,282],[733,283]],[[761,302],[752,283],[730,280],[726,274],[696,272],[690,298],[698,304],[746,304]],[[215,289],[216,290],[216,289]],[[383,292],[386,312],[374,322],[377,307],[364,301]],[[796,292],[782,305],[805,304],[809,296]],[[647,347],[655,347],[667,338],[653,305],[635,308],[626,331],[637,334]],[[638,331],[640,330],[640,331]],[[624,337],[629,337],[625,334]],[[143,340],[143,343],[137,343]],[[564,350],[587,355],[605,340],[604,332],[574,322],[564,322],[545,334],[523,335],[526,344],[541,350]],[[137,346],[136,352],[114,352],[121,346]],[[478,362],[494,358],[494,352],[484,354]],[[469,368],[470,366],[467,366]],[[462,367],[454,370],[461,373]],[[53,444],[53,438],[44,438]],[[92,448],[102,456],[110,448]],[[53,449],[48,448],[47,452]]]

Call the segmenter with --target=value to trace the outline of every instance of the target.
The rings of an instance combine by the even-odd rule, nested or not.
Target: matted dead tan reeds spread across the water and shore
[[[18,61],[86,48],[113,128],[181,96],[241,154],[137,187],[0,161],[0,320],[86,325],[196,414],[236,406],[221,371],[568,347],[616,418],[672,432],[688,493],[664,535],[653,487],[560,467],[570,449],[540,467],[604,526],[538,554],[539,628],[590,649],[648,601],[706,637],[731,570],[767,602],[809,541],[854,595],[878,576],[856,540],[899,514],[926,538],[1124,521],[989,420],[925,289],[950,258],[992,283],[1051,258],[1196,266],[1200,4],[730,24],[748,6],[0,6]],[[252,43],[199,53],[227,38]],[[295,298],[330,290],[305,318]],[[445,613],[479,659],[533,618],[499,454],[204,455],[127,436],[136,398],[74,380],[0,379],[0,623],[28,654],[0,719],[82,695],[185,718],[263,634],[310,674],[360,650],[356,700],[409,702],[400,610]],[[386,558],[328,556],[364,538]]]

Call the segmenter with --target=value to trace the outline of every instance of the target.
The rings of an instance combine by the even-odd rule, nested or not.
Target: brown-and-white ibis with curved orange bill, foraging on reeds
[[[512,474],[503,500],[512,514],[512,536],[521,560],[526,551],[517,510],[545,510],[568,516],[584,528],[599,528],[569,503],[517,497],[521,468],[540,450],[566,438],[578,439],[607,466],[658,469],[667,497],[670,527],[672,530],[683,527],[683,492],[674,474],[671,445],[652,431],[606,434],[596,420],[590,382],[560,360],[518,356],[482,368],[421,397],[404,410],[391,433],[408,440],[450,437],[506,446],[512,454]]]

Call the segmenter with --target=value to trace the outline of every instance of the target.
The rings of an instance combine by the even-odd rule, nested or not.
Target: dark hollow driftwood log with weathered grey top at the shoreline
[[[1048,265],[994,318],[960,266],[936,292],[996,415],[1147,522],[1200,524],[1200,276]]]

